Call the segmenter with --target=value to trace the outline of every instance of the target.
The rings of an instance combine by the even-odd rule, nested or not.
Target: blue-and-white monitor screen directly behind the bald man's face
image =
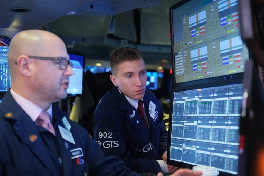
[[[84,60],[85,56],[79,53],[68,53],[70,61],[73,63],[72,71],[74,74],[69,77],[69,87],[67,93],[75,96],[82,95],[83,73],[84,73]]]

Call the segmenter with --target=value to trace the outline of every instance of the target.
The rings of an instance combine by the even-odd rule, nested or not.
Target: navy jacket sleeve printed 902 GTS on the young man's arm
[[[157,160],[149,160],[146,158],[131,158],[130,151],[122,133],[121,126],[125,126],[122,122],[119,109],[103,108],[109,105],[103,105],[96,109],[94,123],[94,139],[99,143],[101,149],[106,156],[117,156],[121,158],[131,170],[138,173],[150,172],[157,174],[161,172],[161,168]],[[133,146],[129,146],[133,147]]]

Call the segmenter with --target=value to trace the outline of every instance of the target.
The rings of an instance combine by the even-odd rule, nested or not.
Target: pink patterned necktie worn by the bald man
[[[46,128],[48,131],[50,131],[50,133],[56,136],[55,130],[50,121],[50,114],[48,112],[42,111],[40,115],[38,116],[36,124],[39,126],[42,126],[43,128]]]

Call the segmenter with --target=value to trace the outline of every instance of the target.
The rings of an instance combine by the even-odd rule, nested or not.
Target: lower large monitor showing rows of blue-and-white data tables
[[[237,174],[242,94],[242,83],[172,88],[167,163]]]

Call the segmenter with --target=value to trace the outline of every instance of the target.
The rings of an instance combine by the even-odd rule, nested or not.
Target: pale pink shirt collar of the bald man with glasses
[[[43,111],[39,106],[35,105],[31,101],[28,101],[24,97],[21,97],[15,91],[10,89],[10,93],[15,99],[16,103],[28,114],[28,116],[33,120],[36,121],[40,113]],[[47,109],[47,112],[50,114],[51,121],[52,121],[52,105]]]

